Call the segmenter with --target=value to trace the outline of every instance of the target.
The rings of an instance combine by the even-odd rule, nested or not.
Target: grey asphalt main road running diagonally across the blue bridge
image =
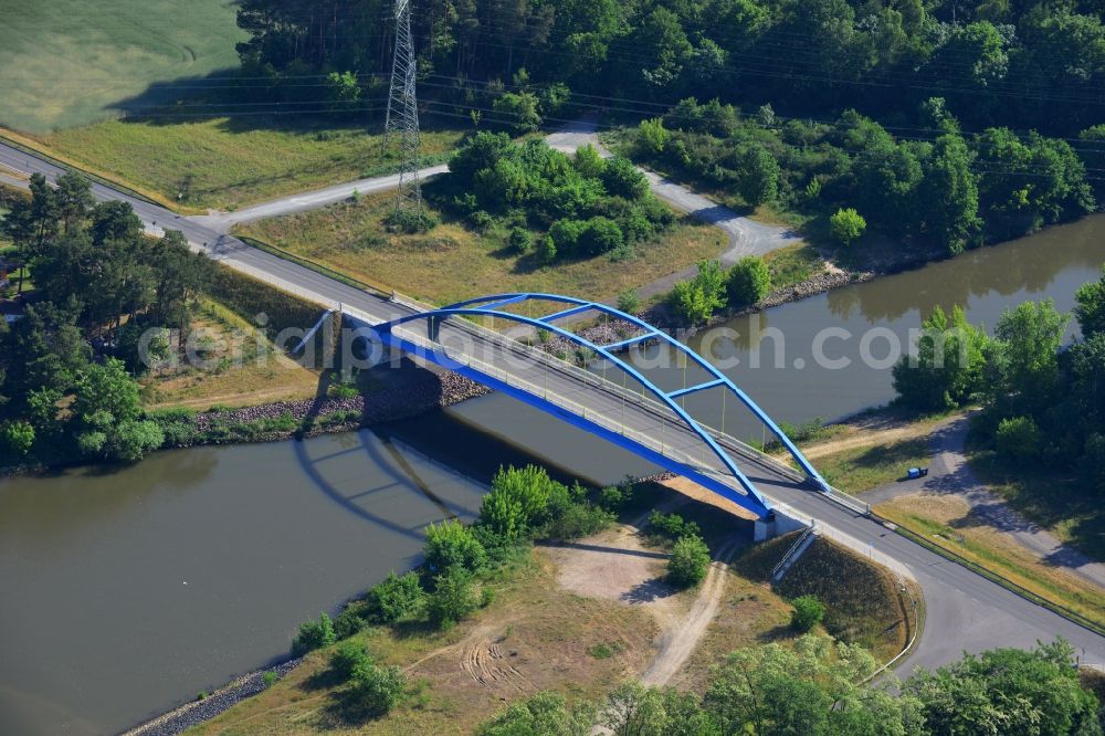
[[[13,169],[41,172],[53,178],[60,170],[53,165],[24,154],[18,149],[0,145],[0,164]],[[168,210],[131,198],[103,185],[93,186],[98,199],[116,199],[129,202],[135,212],[151,230],[181,230],[193,245],[202,248],[213,259],[227,265],[267,278],[280,280],[306,298],[323,303],[340,302],[375,319],[391,319],[410,314],[411,308],[401,304],[380,299],[366,292],[330,280],[314,271],[290,263],[263,251],[253,249],[235,238],[221,234],[204,224],[178,217]],[[464,326],[464,330],[469,328]],[[495,350],[517,351],[520,347]],[[499,362],[499,361],[496,361]],[[501,361],[512,366],[519,361]],[[638,431],[660,430],[671,438],[671,445],[694,451],[697,439],[675,424],[672,419],[657,417],[646,408],[622,409],[618,395],[597,390],[593,377],[580,378],[567,368],[548,371],[526,362],[516,369],[519,377],[529,372],[529,379],[541,375],[549,381],[549,390],[560,396],[586,398],[589,409],[608,417],[623,411],[627,427]],[[536,371],[536,372],[534,372]],[[681,437],[677,432],[683,432]],[[1051,640],[1055,635],[1066,638],[1080,652],[1083,661],[1105,666],[1105,638],[1032,603],[986,578],[970,572],[927,548],[901,537],[878,523],[852,513],[828,501],[819,493],[806,490],[764,461],[749,461],[745,470],[761,492],[772,501],[789,505],[800,516],[817,518],[831,529],[839,530],[853,539],[853,546],[861,551],[885,555],[906,566],[920,583],[925,595],[927,620],[924,632],[914,653],[898,666],[898,672],[907,673],[914,665],[936,666],[957,659],[962,651],[981,651],[994,646],[1031,646],[1038,640]]]

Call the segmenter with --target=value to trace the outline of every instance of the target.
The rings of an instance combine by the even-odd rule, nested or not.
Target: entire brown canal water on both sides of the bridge
[[[1105,218],[1088,218],[735,319],[727,327],[740,336],[709,353],[736,358],[727,374],[777,419],[841,417],[893,397],[888,367],[861,360],[870,328],[904,341],[937,304],[990,326],[1025,299],[1070,309],[1103,261]],[[782,334],[778,367],[770,338],[747,337],[754,324]],[[825,327],[852,335],[823,346],[846,369],[817,365]],[[650,375],[670,389],[694,381],[678,366]],[[687,407],[720,421],[716,397]],[[726,421],[730,433],[760,433],[732,403]],[[427,524],[471,518],[501,464],[534,461],[599,483],[654,471],[492,395],[372,431],[0,481],[0,734],[123,730],[282,658],[301,621],[414,565]]]

